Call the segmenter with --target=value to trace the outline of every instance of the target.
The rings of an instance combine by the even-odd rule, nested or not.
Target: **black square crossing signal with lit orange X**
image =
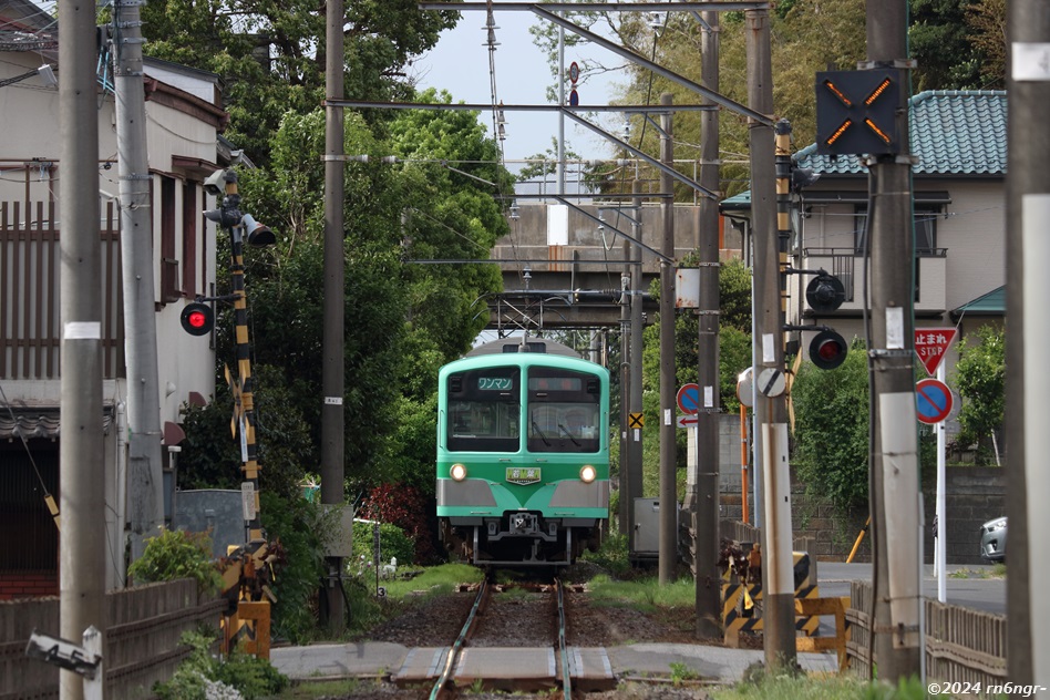
[[[825,71],[816,74],[816,152],[824,155],[900,151],[896,69]]]

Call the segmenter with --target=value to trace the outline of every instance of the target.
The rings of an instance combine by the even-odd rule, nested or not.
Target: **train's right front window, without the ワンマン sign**
[[[593,375],[533,368],[528,375],[529,452],[598,452],[600,389]]]

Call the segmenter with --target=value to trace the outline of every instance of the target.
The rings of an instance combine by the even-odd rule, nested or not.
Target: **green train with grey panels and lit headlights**
[[[476,565],[567,566],[609,517],[609,372],[543,338],[439,374],[437,519]]]

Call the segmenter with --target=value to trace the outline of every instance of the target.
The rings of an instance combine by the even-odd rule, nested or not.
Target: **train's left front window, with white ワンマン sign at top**
[[[452,452],[521,449],[521,371],[470,370],[449,378],[447,444]]]

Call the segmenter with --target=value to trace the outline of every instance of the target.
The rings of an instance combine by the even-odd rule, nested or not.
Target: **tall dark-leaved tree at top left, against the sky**
[[[404,69],[460,18],[412,0],[346,3],[346,94],[406,99]],[[326,6],[305,0],[158,0],[142,8],[146,55],[217,73],[230,114],[227,137],[258,164],[286,112],[325,97]],[[374,117],[382,119],[382,117]]]

